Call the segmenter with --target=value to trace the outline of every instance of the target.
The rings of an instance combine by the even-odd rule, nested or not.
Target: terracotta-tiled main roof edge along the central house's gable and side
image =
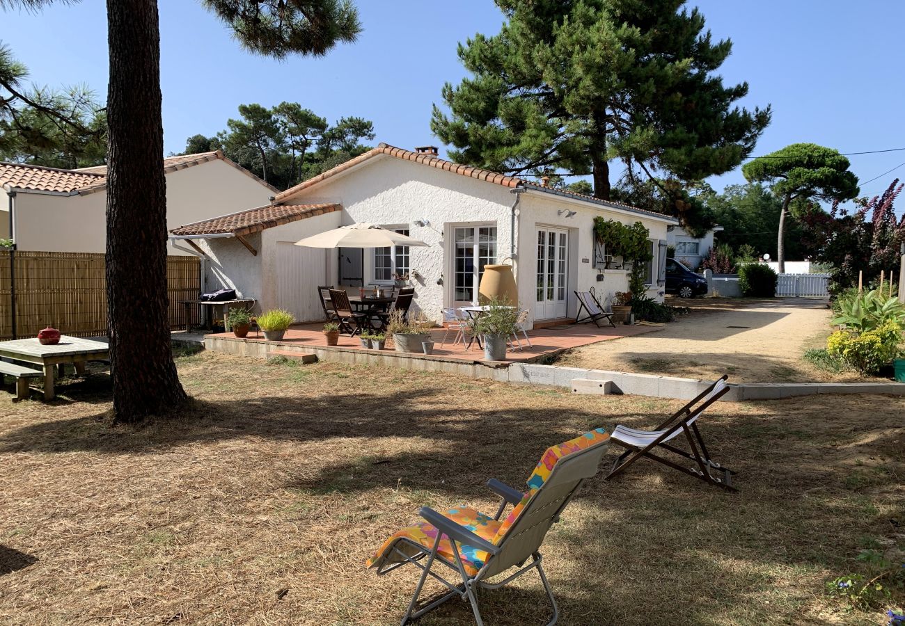
[[[611,202],[609,200],[600,200],[599,198],[595,198],[591,195],[586,194],[576,194],[574,192],[562,190],[562,189],[552,189],[550,187],[545,187],[543,185],[538,185],[533,181],[526,180],[524,178],[519,178],[518,176],[510,176],[506,174],[500,174],[500,172],[491,172],[487,169],[481,169],[481,167],[474,166],[466,166],[458,163],[452,163],[452,161],[446,161],[438,156],[433,156],[431,154],[412,152],[410,150],[405,150],[401,147],[390,146],[388,144],[380,144],[373,150],[369,150],[363,155],[356,156],[353,159],[346,161],[345,163],[341,163],[332,169],[327,170],[323,174],[319,174],[314,176],[313,178],[309,178],[306,181],[301,182],[299,185],[295,185],[287,189],[286,191],[277,194],[274,198],[275,203],[281,203],[286,200],[289,200],[293,195],[298,194],[303,189],[307,189],[310,186],[318,185],[319,183],[327,180],[328,178],[332,178],[335,175],[342,174],[343,172],[351,169],[352,167],[358,166],[370,158],[374,156],[380,155],[388,155],[394,156],[395,158],[404,159],[406,161],[414,161],[414,163],[419,163],[424,166],[436,167],[437,169],[443,169],[448,172],[452,172],[453,174],[469,176],[471,178],[477,178],[479,180],[485,180],[490,183],[496,185],[502,185],[505,187],[515,188],[515,187],[527,187],[530,189],[536,189],[539,191],[544,191],[550,194],[562,195],[567,197],[573,197],[577,200],[584,200],[589,203],[599,204],[601,206],[608,206],[614,209],[621,209],[624,211],[628,211],[630,213],[641,213],[643,215],[650,215],[652,217],[658,217],[665,220],[670,220],[672,222],[678,223],[678,220],[673,218],[670,215],[664,215],[663,213],[656,213],[655,211],[647,211],[646,209],[639,209],[636,206],[630,206],[628,204],[622,204],[617,202]]]

